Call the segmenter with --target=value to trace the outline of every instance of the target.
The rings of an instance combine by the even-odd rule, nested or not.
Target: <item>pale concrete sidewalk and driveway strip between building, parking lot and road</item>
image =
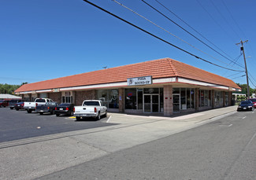
[[[32,179],[210,123],[236,113],[236,106],[184,116],[109,113],[114,126],[77,130],[0,144],[0,179]]]

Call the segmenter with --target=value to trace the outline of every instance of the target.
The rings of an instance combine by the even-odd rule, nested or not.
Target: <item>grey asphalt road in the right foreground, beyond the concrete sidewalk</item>
[[[256,113],[136,145],[39,179],[256,179]]]

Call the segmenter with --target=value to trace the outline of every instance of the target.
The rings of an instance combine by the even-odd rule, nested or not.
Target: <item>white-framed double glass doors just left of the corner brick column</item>
[[[144,95],[144,112],[159,112],[159,95]]]

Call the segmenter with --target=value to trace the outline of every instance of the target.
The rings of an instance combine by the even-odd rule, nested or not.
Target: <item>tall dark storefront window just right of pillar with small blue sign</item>
[[[125,89],[125,109],[137,109],[136,88]]]

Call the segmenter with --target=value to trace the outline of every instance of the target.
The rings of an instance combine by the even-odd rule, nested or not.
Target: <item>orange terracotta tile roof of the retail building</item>
[[[214,75],[191,65],[164,58],[137,64],[128,64],[117,68],[107,68],[95,72],[85,72],[58,79],[50,79],[20,86],[15,92],[31,90],[49,90],[61,87],[88,86],[103,83],[126,82],[128,78],[152,75],[153,79],[166,77],[183,77],[206,83],[239,88],[232,80]]]

